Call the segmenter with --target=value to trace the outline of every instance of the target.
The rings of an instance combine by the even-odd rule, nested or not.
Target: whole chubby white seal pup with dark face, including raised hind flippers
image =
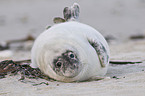
[[[89,25],[77,21],[79,5],[64,8],[64,20],[45,30],[31,50],[31,67],[58,81],[74,82],[102,77],[109,65],[109,46]]]

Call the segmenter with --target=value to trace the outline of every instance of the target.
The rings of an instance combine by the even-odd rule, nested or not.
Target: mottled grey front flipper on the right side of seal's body
[[[109,55],[108,55],[104,45],[99,41],[90,41],[89,40],[89,43],[96,50],[96,53],[98,54],[101,66],[106,67],[107,63],[109,62]]]

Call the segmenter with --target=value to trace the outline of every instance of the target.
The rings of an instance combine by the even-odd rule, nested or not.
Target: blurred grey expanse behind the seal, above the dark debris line
[[[74,2],[80,5],[80,22],[104,36],[126,41],[145,35],[145,0],[0,0],[0,41],[38,36]]]

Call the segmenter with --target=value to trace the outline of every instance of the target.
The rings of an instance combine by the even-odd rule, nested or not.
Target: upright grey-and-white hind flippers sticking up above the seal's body
[[[77,20],[79,18],[79,13],[80,9],[77,3],[74,3],[71,7],[65,7],[63,10],[64,19],[66,21]]]

